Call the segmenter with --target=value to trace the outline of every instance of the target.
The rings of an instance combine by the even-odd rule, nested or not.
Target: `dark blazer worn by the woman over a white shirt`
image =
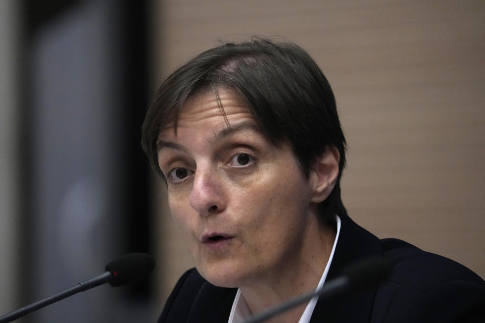
[[[382,239],[341,217],[342,227],[326,281],[369,256],[389,261],[380,286],[318,300],[316,322],[485,322],[485,282],[461,264],[398,239]],[[237,289],[217,287],[195,268],[177,282],[158,322],[224,322]]]

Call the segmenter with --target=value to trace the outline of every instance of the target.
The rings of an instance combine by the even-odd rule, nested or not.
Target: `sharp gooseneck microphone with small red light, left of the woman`
[[[0,316],[0,323],[7,323],[27,315],[37,309],[60,301],[79,292],[84,292],[96,286],[109,283],[113,287],[128,285],[145,278],[155,267],[155,260],[146,253],[129,253],[113,260],[105,266],[105,273],[79,283],[60,293],[44,298],[38,302],[22,307],[16,311]]]

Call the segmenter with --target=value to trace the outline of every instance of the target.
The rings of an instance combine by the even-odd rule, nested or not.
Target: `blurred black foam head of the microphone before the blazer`
[[[366,289],[377,286],[392,272],[389,262],[382,258],[371,257],[358,261],[343,271],[344,276],[349,278],[354,289]]]

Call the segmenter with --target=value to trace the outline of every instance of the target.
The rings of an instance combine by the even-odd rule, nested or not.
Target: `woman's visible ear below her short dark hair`
[[[320,203],[330,195],[337,182],[339,161],[340,153],[334,146],[327,147],[315,160],[310,170],[311,202]]]

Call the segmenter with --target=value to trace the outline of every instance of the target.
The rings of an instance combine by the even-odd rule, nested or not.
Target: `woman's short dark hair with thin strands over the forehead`
[[[173,72],[158,90],[142,126],[143,150],[159,174],[163,176],[156,143],[160,129],[172,122],[176,132],[187,98],[207,90],[217,95],[218,88],[232,89],[239,95],[272,143],[286,141],[292,146],[307,178],[316,158],[328,147],[336,147],[340,170],[333,191],[320,203],[320,213],[325,220],[330,214],[347,213],[340,188],[346,141],[335,97],[318,65],[293,43],[262,38],[225,43]],[[221,111],[224,114],[222,106]]]

